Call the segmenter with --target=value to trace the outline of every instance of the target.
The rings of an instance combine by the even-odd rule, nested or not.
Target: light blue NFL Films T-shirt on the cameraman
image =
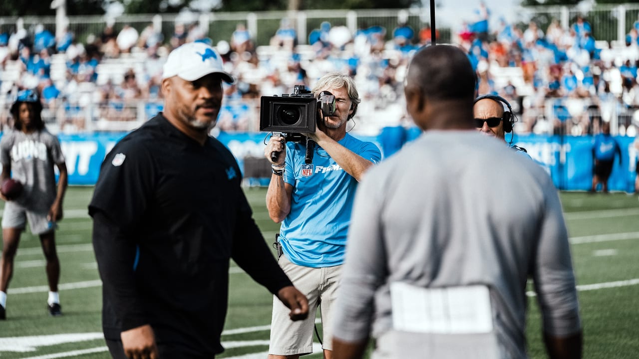
[[[381,160],[380,149],[372,142],[346,134],[337,143],[371,162]],[[357,180],[318,145],[311,164],[305,164],[305,151],[304,144],[286,144],[284,181],[293,186],[293,195],[279,240],[291,263],[311,268],[337,266],[344,261]]]

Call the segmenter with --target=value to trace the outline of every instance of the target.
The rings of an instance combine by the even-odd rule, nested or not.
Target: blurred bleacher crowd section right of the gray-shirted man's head
[[[546,29],[534,21],[522,29],[500,19],[489,31],[489,11],[483,13],[459,40],[477,69],[479,93],[509,99],[520,112],[519,132],[594,134],[602,121],[617,118],[619,134],[636,134],[639,22],[626,43],[608,43],[597,42],[581,15],[568,28],[556,19]],[[498,80],[508,68],[520,74]]]

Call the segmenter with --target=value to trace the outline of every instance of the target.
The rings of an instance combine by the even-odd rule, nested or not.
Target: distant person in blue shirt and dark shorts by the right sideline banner
[[[615,139],[610,135],[610,122],[601,125],[601,134],[597,134],[592,145],[592,188],[590,192],[597,192],[597,187],[601,185],[603,193],[608,193],[608,178],[612,173],[615,162],[615,155],[619,157],[621,165],[621,148]]]

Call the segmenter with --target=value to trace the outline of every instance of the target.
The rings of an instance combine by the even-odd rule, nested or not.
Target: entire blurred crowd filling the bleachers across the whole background
[[[518,27],[505,19],[491,29],[489,20],[490,10],[481,3],[477,19],[465,23],[452,42],[468,50],[478,92],[511,102],[518,112],[518,132],[593,134],[601,121],[620,116],[620,130],[633,135],[639,109],[639,22],[626,43],[608,43],[597,42],[583,17],[566,29],[557,20],[542,29],[534,21]],[[87,119],[95,119],[98,125],[91,129],[100,130],[117,128],[109,123],[136,121],[141,114],[153,116],[162,109],[166,55],[185,42],[211,42],[206,31],[214,30],[176,22],[173,35],[164,38],[150,22],[140,32],[124,25],[117,33],[107,23],[102,33],[89,34],[83,42],[69,31],[56,37],[42,26],[0,34],[0,121],[7,123],[3,109],[22,88],[40,91],[44,117],[63,131],[83,130]],[[285,18],[269,45],[256,46],[254,34],[238,23],[228,41],[212,44],[238,79],[226,88],[219,128],[256,130],[260,96],[290,93],[295,84],[311,87],[330,71],[355,77],[364,121],[408,125],[401,104],[406,65],[413,51],[430,42],[429,27],[413,29],[400,19],[394,29],[360,24],[355,33],[323,22],[301,45]],[[383,111],[389,108],[393,111]]]

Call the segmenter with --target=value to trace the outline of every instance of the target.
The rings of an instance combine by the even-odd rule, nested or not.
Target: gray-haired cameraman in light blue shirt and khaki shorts
[[[270,359],[295,359],[312,353],[315,313],[321,306],[324,357],[332,358],[332,303],[344,262],[346,232],[357,183],[366,170],[381,159],[380,149],[346,132],[355,116],[358,98],[355,82],[342,73],[328,73],[318,80],[312,93],[330,91],[335,113],[318,119],[316,132],[307,134],[316,142],[312,163],[305,162],[305,144],[285,143],[273,136],[265,148],[272,162],[266,206],[273,221],[281,222],[279,259],[288,277],[309,300],[309,316],[293,323],[283,305],[273,301]],[[279,153],[277,160],[271,158]]]

